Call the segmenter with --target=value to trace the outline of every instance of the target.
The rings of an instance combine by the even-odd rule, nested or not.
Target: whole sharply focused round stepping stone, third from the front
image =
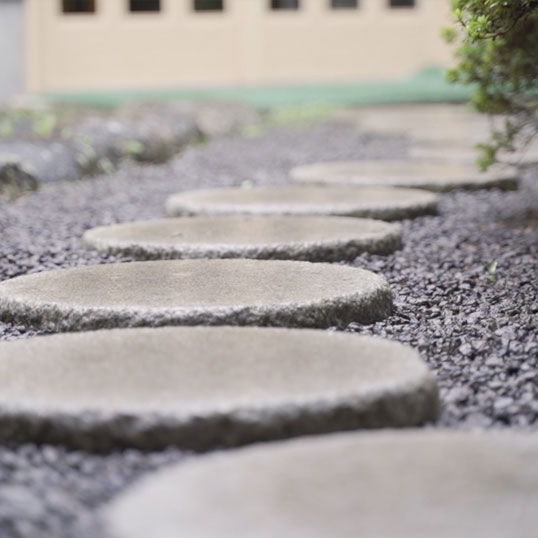
[[[343,265],[166,260],[93,265],[0,283],[0,319],[53,331],[164,325],[329,327],[391,312],[387,281]]]

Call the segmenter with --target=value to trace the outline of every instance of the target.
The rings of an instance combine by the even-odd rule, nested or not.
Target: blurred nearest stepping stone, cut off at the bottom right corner
[[[533,538],[538,435],[414,430],[272,443],[168,467],[108,538]]]

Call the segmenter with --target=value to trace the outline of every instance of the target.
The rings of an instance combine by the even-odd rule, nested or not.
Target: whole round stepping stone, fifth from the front
[[[398,220],[437,211],[434,194],[411,189],[254,187],[187,191],[168,198],[167,214],[293,215]]]

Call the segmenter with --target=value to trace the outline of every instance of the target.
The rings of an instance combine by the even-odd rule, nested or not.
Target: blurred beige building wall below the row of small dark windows
[[[337,83],[411,75],[450,62],[440,38],[447,0],[389,9],[360,0],[332,10],[302,0],[225,0],[194,12],[192,0],[161,0],[160,13],[129,13],[127,0],[97,0],[95,14],[61,13],[60,0],[26,0],[28,90],[186,88]]]

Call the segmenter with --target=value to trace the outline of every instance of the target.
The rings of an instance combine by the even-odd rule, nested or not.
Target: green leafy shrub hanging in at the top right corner
[[[538,132],[538,0],[453,0],[452,8],[458,25],[444,34],[459,40],[459,63],[448,80],[473,86],[479,112],[506,116],[481,145],[487,168]]]

